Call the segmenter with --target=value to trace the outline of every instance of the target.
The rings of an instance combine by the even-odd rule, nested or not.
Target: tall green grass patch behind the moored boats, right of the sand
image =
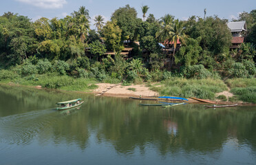
[[[151,87],[161,96],[180,96],[184,98],[196,97],[214,99],[217,92],[226,90],[227,87],[219,79],[186,79],[171,78],[162,82],[162,87]]]

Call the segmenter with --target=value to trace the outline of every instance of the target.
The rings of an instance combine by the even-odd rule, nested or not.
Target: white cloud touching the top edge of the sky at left
[[[63,8],[63,5],[67,3],[65,0],[17,0],[23,3],[28,3],[39,8]]]

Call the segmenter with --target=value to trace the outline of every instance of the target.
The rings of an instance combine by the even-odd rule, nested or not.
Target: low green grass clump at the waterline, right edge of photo
[[[237,87],[231,89],[231,92],[237,96],[238,100],[256,104],[256,87]]]

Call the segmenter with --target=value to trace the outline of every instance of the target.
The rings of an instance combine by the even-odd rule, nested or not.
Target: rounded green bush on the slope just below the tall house
[[[233,63],[231,69],[229,69],[228,74],[232,78],[247,78],[248,71],[242,63]]]

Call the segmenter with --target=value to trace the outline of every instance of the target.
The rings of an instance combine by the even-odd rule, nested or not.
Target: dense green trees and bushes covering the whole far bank
[[[243,12],[235,20],[246,21],[248,33],[243,34],[245,43],[230,50],[232,34],[225,19],[192,16],[179,21],[170,14],[160,19],[149,14],[145,20],[148,9],[142,6],[143,21],[129,5],[115,10],[107,23],[98,15],[94,18],[97,31],[89,29],[85,6],[64,19],[42,17],[34,22],[7,12],[0,17],[0,81],[64,88],[76,79],[142,83],[255,77],[256,10]],[[133,50],[124,55],[125,47]],[[50,80],[53,75],[60,79]],[[43,76],[47,83],[41,80]],[[58,83],[62,78],[70,84]],[[198,84],[176,86],[161,92],[214,98],[220,91]]]

